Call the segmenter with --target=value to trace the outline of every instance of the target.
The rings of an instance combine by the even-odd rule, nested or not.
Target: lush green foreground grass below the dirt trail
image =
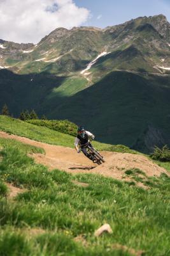
[[[48,172],[25,153],[23,145],[13,141],[1,149],[1,182],[29,190],[12,201],[0,196],[0,255],[131,255],[115,250],[115,243],[148,256],[168,255],[167,176],[157,179],[157,187],[144,190],[100,175]],[[111,225],[113,234],[94,237],[104,223]],[[45,234],[31,236],[28,228],[42,228]],[[74,241],[80,235],[86,246]]]

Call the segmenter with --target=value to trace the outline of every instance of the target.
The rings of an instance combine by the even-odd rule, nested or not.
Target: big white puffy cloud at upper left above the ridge
[[[73,0],[0,0],[0,38],[37,43],[54,29],[80,26],[90,11]]]

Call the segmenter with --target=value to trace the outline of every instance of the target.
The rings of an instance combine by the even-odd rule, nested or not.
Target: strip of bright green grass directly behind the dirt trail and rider
[[[53,131],[47,127],[29,124],[8,116],[0,115],[0,131],[16,134],[18,136],[24,136],[32,140],[42,141],[53,145],[71,148],[74,147],[74,137],[69,134]],[[93,141],[92,144],[97,148],[97,150],[129,152],[134,154],[138,153],[137,151],[131,150],[124,145],[110,145],[100,143],[98,141]]]

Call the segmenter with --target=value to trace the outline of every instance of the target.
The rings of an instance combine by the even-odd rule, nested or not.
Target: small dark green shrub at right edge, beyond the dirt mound
[[[154,160],[160,160],[162,162],[170,162],[170,150],[167,145],[164,147],[154,147],[154,152],[150,155]]]

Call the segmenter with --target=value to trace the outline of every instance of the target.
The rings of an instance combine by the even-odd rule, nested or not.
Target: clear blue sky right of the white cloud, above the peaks
[[[139,16],[164,14],[170,22],[170,0],[74,0],[79,7],[90,10],[85,26],[105,28]]]

